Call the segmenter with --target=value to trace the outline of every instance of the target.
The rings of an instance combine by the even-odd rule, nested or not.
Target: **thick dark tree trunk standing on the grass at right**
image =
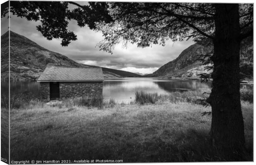
[[[239,83],[238,4],[216,4],[212,91],[207,101],[212,107],[213,146],[227,154],[244,149],[244,121]]]

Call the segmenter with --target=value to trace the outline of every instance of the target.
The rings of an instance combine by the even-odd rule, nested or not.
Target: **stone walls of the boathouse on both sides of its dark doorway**
[[[60,99],[73,97],[102,98],[103,82],[59,82]],[[50,82],[40,82],[40,95],[43,100],[50,100]]]

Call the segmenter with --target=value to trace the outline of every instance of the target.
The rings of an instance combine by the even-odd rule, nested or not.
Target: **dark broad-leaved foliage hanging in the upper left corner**
[[[77,5],[77,8],[70,10],[69,5]],[[88,19],[111,20],[110,17],[103,17],[107,10],[104,9],[105,3],[90,3],[95,10],[88,14],[89,6],[81,6],[75,2],[50,2],[50,1],[11,1],[10,12],[18,17],[25,18],[28,21],[40,21],[41,25],[36,26],[37,30],[48,40],[61,38],[62,46],[67,46],[77,36],[73,31],[69,31],[68,25],[71,19],[77,21],[78,26],[88,25],[95,28],[94,22],[88,22]],[[1,18],[7,14],[8,7],[2,9]],[[87,17],[85,19],[85,17]]]

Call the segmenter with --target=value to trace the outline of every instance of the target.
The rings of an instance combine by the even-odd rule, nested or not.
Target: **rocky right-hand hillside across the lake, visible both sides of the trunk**
[[[240,49],[240,78],[252,79],[253,77],[253,40],[249,38],[243,40]],[[204,65],[198,60],[200,54],[213,54],[213,46],[204,47],[194,44],[183,50],[173,61],[161,66],[157,71],[146,77],[192,77],[199,78],[201,73],[211,73],[205,71]]]

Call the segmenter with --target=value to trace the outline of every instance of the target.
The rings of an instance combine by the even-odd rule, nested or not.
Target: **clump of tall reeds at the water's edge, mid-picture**
[[[140,104],[151,103],[155,104],[158,100],[157,93],[146,93],[143,91],[135,92],[135,101]]]

